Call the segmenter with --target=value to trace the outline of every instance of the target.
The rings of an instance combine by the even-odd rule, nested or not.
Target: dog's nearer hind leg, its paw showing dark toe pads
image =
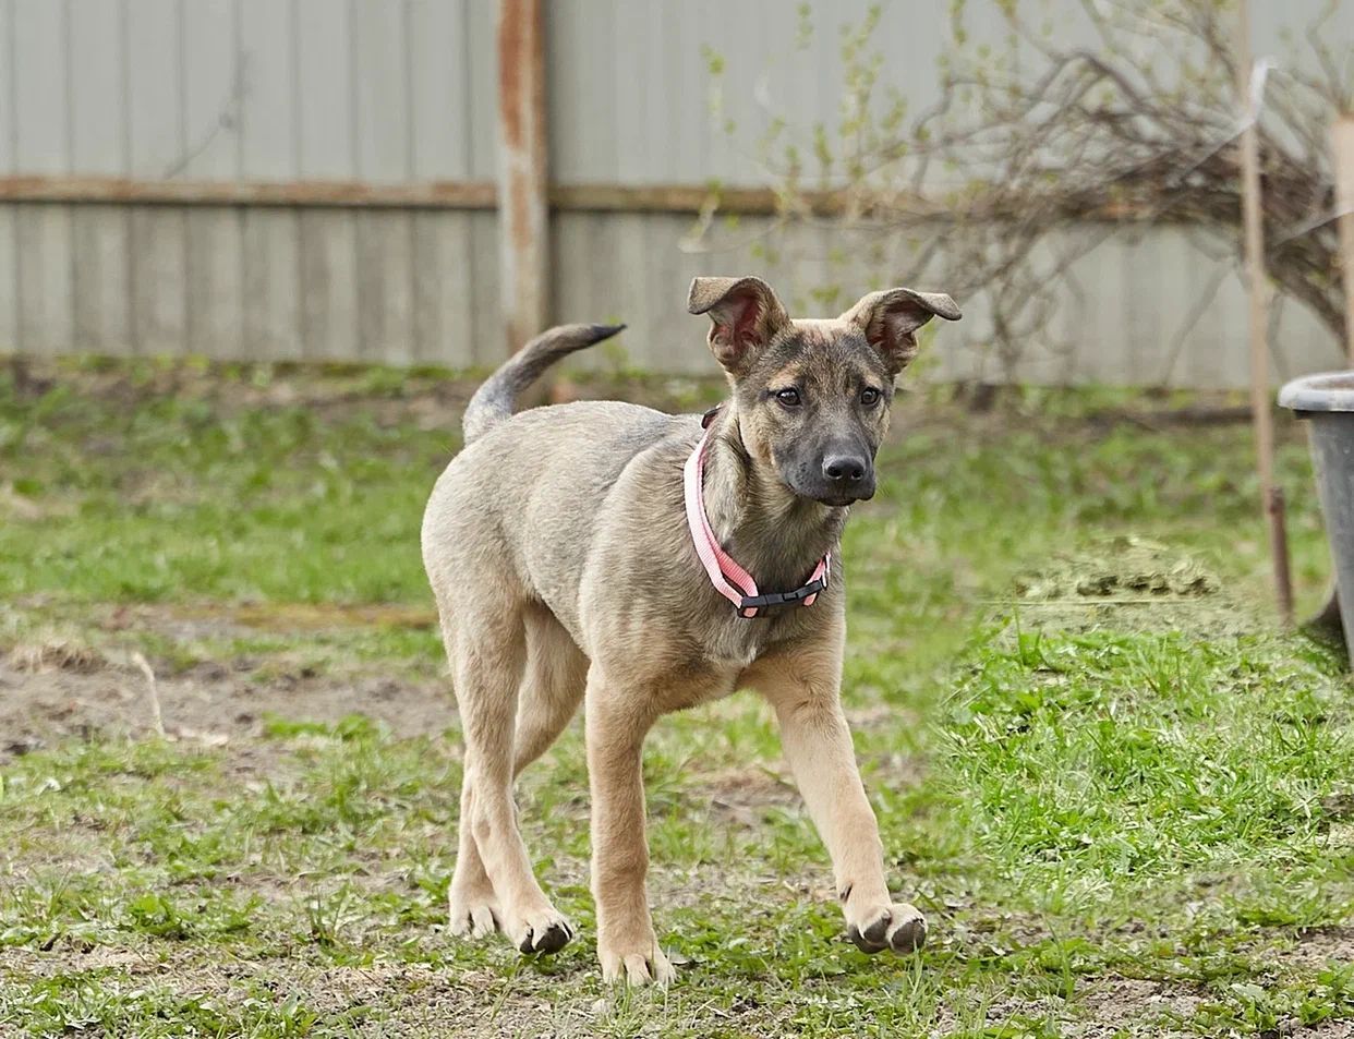
[[[550,904],[531,871],[517,829],[512,797],[517,694],[525,662],[525,631],[515,606],[478,601],[473,631],[455,639],[455,685],[466,740],[462,791],[462,848],[468,826],[478,851],[478,871],[490,882],[490,910],[523,952],[555,952],[573,937],[573,928]],[[464,881],[458,881],[464,871]],[[467,856],[452,878],[452,908],[458,895],[477,889],[477,863]],[[483,891],[479,891],[481,897]],[[474,906],[468,908],[474,920]]]

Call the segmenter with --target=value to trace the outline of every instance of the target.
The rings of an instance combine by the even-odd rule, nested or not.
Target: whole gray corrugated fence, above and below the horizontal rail
[[[1322,3],[1254,4],[1258,50],[1278,49],[1278,26],[1301,24]],[[756,140],[772,115],[789,115],[802,140],[839,118],[838,27],[868,3],[815,3],[803,46],[798,7],[550,0],[552,180],[766,183]],[[886,77],[914,108],[934,92],[949,7],[886,5],[880,38],[902,42]],[[1340,19],[1354,24],[1354,9]],[[718,77],[705,47],[724,57]],[[0,177],[486,182],[494,64],[492,0],[0,0]],[[700,322],[682,308],[692,274],[757,270],[807,301],[825,282],[864,293],[907,271],[903,256],[886,271],[864,252],[829,264],[833,252],[850,257],[850,242],[811,229],[779,241],[777,263],[754,259],[758,218],[692,252],[682,248],[691,224],[555,214],[556,317],[631,324],[623,352],[598,363],[708,370]],[[1175,230],[1097,253],[1074,272],[1057,343],[1018,374],[1167,374],[1163,355],[1212,263]],[[0,351],[487,364],[502,351],[497,270],[492,211],[4,203]],[[982,328],[979,305],[946,329],[932,373],[995,373]],[[1244,383],[1243,340],[1231,279],[1170,381]],[[1338,362],[1297,310],[1277,343],[1282,370]]]

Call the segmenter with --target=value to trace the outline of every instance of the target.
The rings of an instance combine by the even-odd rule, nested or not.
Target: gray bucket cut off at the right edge
[[[1335,561],[1345,648],[1354,666],[1354,371],[1293,379],[1278,402],[1312,423],[1312,461]]]

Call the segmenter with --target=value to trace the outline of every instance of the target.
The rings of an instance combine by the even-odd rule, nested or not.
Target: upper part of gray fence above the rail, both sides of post
[[[555,0],[547,5],[554,177],[562,184],[765,183],[842,121],[842,31],[872,0]],[[1257,5],[1257,53],[1328,0]],[[949,0],[884,4],[876,103],[936,99]],[[1076,0],[1048,5],[1072,31]],[[999,37],[969,5],[976,35]],[[1354,34],[1342,4],[1324,34]],[[492,177],[490,0],[3,0],[0,169],[278,180]],[[705,51],[723,60],[712,77]],[[711,111],[712,95],[719,111]],[[787,119],[761,153],[770,121]],[[723,123],[735,131],[728,134]],[[18,156],[11,156],[18,152]],[[811,165],[811,164],[810,164]]]

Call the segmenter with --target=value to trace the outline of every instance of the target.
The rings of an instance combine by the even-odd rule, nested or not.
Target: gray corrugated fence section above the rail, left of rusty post
[[[0,171],[492,177],[485,0],[0,0]]]

